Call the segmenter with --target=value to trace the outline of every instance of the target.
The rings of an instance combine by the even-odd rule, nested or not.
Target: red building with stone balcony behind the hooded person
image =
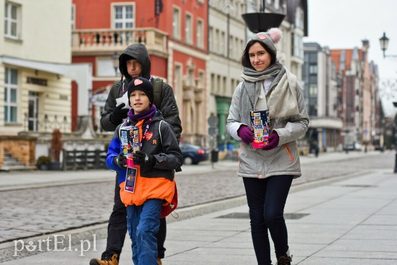
[[[132,43],[145,44],[151,74],[173,89],[182,121],[182,140],[204,142],[206,132],[206,0],[73,0],[72,63],[92,64],[92,94],[107,93],[121,77],[113,56]],[[77,116],[77,88],[72,116]],[[92,106],[99,131],[102,107]]]

